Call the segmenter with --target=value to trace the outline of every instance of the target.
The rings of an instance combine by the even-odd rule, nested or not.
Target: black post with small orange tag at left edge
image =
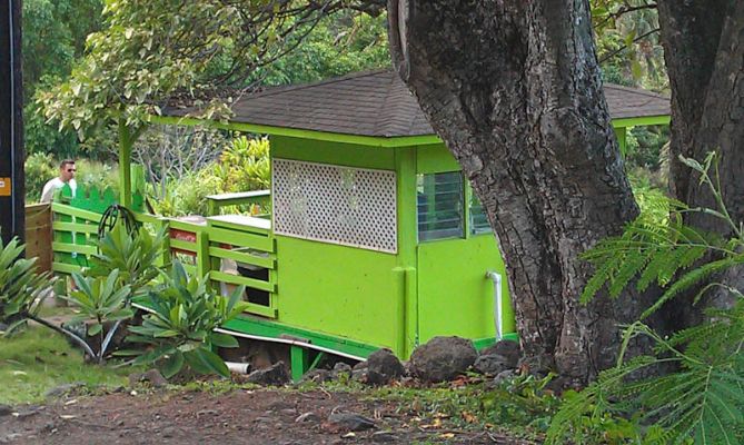
[[[21,0],[0,0],[0,236],[23,240]]]

